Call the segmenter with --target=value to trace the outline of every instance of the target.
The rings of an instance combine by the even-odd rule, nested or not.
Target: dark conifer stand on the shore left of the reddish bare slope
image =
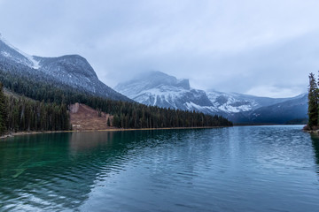
[[[5,96],[1,83],[0,102],[0,134],[70,129],[69,114],[64,103],[45,103],[24,97]]]

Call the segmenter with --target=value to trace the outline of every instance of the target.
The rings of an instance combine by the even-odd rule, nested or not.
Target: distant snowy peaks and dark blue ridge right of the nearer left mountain
[[[285,124],[307,117],[307,94],[268,98],[191,88],[188,79],[148,72],[114,89],[136,102],[159,107],[222,115],[235,123]]]

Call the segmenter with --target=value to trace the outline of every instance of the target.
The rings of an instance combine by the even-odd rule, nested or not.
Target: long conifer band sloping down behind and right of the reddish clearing
[[[230,121],[221,116],[210,116],[196,111],[170,110],[146,106],[137,102],[122,102],[80,93],[73,87],[56,87],[0,70],[4,86],[20,95],[44,102],[73,104],[81,102],[93,109],[113,115],[111,125],[122,128],[228,126]]]

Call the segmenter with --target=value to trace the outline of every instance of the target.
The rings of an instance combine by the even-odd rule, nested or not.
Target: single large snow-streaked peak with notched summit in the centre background
[[[179,110],[214,110],[202,90],[192,89],[188,79],[163,72],[148,72],[141,78],[120,83],[114,89],[136,102]]]

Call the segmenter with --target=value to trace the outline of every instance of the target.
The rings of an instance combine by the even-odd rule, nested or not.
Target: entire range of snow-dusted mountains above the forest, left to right
[[[307,94],[293,98],[267,98],[203,91],[192,88],[188,79],[176,79],[163,72],[148,72],[120,83],[114,87],[115,91],[97,78],[85,58],[78,55],[30,56],[6,42],[1,34],[0,71],[54,87],[73,87],[89,95],[113,100],[222,115],[235,123],[285,124],[307,117]]]

